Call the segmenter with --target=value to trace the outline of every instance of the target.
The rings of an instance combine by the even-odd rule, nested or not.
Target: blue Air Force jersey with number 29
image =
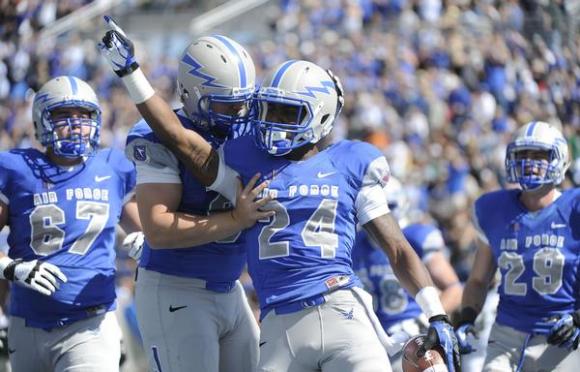
[[[538,212],[519,196],[519,190],[483,195],[474,219],[502,276],[496,321],[547,333],[548,319],[580,308],[580,189],[564,191]]]

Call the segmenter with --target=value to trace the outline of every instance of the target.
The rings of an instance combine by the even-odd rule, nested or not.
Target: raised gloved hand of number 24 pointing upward
[[[133,42],[129,40],[113,18],[109,16],[104,18],[108,30],[97,46],[119,77],[129,75],[139,68],[139,64],[135,60]]]

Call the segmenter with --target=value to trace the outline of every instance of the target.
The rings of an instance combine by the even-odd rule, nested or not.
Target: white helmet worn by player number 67
[[[90,112],[90,118],[51,118],[55,109],[65,107],[83,108]],[[59,76],[44,84],[34,96],[32,120],[36,139],[45,147],[52,147],[54,153],[63,157],[77,158],[91,155],[99,146],[101,130],[101,109],[97,95],[89,84],[74,76]],[[88,126],[88,137],[71,134],[59,138],[58,127]]]

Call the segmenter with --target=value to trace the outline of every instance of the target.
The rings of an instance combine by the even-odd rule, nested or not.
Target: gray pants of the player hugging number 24
[[[255,371],[259,329],[239,282],[217,293],[139,268],[135,305],[151,371]]]

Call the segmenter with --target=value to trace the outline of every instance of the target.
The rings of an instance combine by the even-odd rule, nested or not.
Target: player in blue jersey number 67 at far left
[[[50,80],[32,110],[46,151],[0,153],[12,370],[118,371],[115,227],[141,228],[135,168],[121,151],[98,149],[101,109],[84,81]]]

